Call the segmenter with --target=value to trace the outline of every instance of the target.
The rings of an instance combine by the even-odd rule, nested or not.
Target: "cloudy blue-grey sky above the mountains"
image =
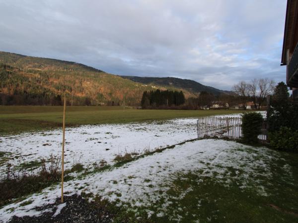
[[[0,0],[0,51],[223,90],[286,79],[286,0]]]

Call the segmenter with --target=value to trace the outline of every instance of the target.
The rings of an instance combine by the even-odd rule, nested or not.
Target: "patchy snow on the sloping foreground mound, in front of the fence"
[[[254,148],[224,140],[197,140],[140,158],[122,167],[112,167],[103,172],[85,175],[82,179],[68,181],[64,188],[68,195],[91,192],[94,196],[100,195],[111,202],[117,201],[118,205],[127,206],[136,213],[142,207],[148,216],[155,214],[162,217],[172,204],[169,199],[183,199],[193,189],[187,188],[179,197],[167,193],[171,183],[181,174],[199,173],[202,180],[205,176],[212,176],[227,187],[232,179],[236,179],[241,190],[253,189],[260,196],[268,196],[264,182],[272,177],[269,165],[276,159],[278,153],[267,148]],[[230,168],[236,169],[235,175],[230,175]],[[288,169],[287,173],[291,174],[291,170]],[[265,178],[264,182],[258,180],[260,176]],[[201,181],[198,182],[200,183]],[[59,196],[59,185],[44,189],[42,193],[29,196],[22,202],[3,207],[0,210],[0,219],[5,222],[14,215],[40,215],[44,211],[35,208],[54,203]],[[154,204],[160,201],[162,205],[156,205],[157,209],[153,211]],[[20,206],[23,202],[32,203]],[[45,211],[53,212],[54,215],[55,210]]]

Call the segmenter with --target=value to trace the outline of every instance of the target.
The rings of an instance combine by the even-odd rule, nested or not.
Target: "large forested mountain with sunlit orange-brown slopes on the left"
[[[189,83],[201,85],[178,78],[166,78],[167,84],[164,78],[144,80],[139,83],[76,62],[0,52],[0,105],[61,105],[66,92],[69,105],[122,105],[125,97],[126,105],[140,106],[144,91],[183,91],[187,99],[200,90]]]

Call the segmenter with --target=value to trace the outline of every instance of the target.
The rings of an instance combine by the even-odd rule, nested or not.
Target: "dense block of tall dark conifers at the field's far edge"
[[[143,109],[156,109],[165,107],[177,107],[185,103],[182,91],[155,90],[144,91],[141,106]]]

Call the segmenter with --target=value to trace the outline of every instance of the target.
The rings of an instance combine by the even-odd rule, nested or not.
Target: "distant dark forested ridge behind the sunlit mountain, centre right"
[[[223,91],[217,88],[213,88],[210,86],[206,86],[200,84],[193,80],[181,79],[175,77],[136,77],[136,76],[122,76],[123,78],[147,84],[147,85],[158,85],[163,87],[175,87],[175,88],[183,88],[195,95],[199,95],[200,92],[208,92],[215,96],[219,96],[221,94],[233,95],[233,92]]]

